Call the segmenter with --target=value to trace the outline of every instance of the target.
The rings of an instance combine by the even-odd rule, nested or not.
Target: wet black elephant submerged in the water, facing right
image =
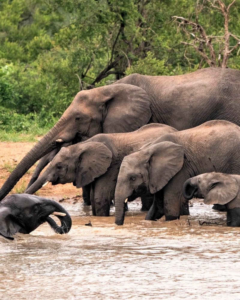
[[[49,217],[53,212],[57,215],[61,226]],[[17,233],[30,233],[42,223],[47,222],[52,229],[60,234],[71,229],[72,220],[68,212],[56,201],[29,194],[12,194],[0,203],[0,235],[14,239]]]

